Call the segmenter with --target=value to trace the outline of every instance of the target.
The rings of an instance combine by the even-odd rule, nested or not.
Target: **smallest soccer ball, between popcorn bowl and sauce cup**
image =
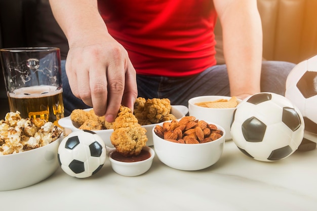
[[[106,146],[101,137],[88,130],[66,136],[58,147],[58,161],[69,176],[87,178],[96,174],[106,160]]]

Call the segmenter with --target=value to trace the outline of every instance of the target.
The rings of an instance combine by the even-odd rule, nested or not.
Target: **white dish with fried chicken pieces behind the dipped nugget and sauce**
[[[188,112],[186,106],[171,105],[169,99],[147,99],[137,98],[134,104],[133,115],[138,123],[146,130],[147,146],[153,145],[152,128],[161,122],[179,119]],[[75,109],[67,117],[58,121],[63,128],[72,132],[77,130],[90,130],[98,134],[107,147],[113,148],[110,136],[113,133],[113,123],[105,121],[104,116],[97,116],[93,108]]]

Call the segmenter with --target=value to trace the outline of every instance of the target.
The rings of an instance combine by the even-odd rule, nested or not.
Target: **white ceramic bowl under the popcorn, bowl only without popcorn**
[[[50,177],[59,167],[56,141],[36,149],[0,156],[0,191],[34,185]]]

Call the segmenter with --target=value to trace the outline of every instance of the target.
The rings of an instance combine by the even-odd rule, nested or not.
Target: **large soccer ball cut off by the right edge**
[[[305,139],[314,142],[317,134],[317,55],[298,63],[286,80],[285,97],[298,107],[305,122]]]

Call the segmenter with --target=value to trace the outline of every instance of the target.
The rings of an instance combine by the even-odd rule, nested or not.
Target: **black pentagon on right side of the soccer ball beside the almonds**
[[[290,107],[283,108],[282,121],[292,131],[296,131],[301,125],[299,114],[294,108]]]

